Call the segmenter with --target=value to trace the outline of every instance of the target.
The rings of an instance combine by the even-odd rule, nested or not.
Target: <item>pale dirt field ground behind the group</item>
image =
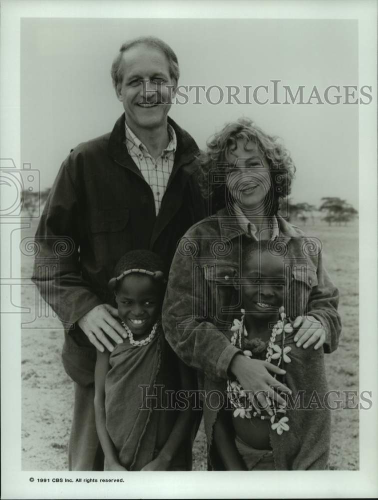
[[[34,234],[35,224],[23,237]],[[308,224],[305,230],[324,244],[327,269],[340,290],[339,310],[343,332],[339,348],[326,356],[329,388],[359,390],[359,296],[358,224],[329,227],[323,222]],[[22,257],[22,276],[31,274],[33,258]],[[67,470],[67,442],[72,413],[72,382],[65,374],[60,351],[63,331],[51,317],[31,322],[35,313],[35,289],[25,285],[22,305],[22,469]],[[28,327],[26,327],[28,326]],[[32,327],[30,327],[32,326]],[[359,468],[359,412],[332,411],[332,469]],[[194,469],[206,469],[206,438],[202,426],[194,447]]]

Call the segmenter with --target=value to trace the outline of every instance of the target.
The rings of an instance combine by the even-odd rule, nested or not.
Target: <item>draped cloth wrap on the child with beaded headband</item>
[[[156,394],[154,384],[172,385],[167,380],[170,373],[171,378],[175,374],[172,366],[164,369],[163,378],[159,373],[166,364],[166,351],[159,327],[147,345],[133,346],[126,339],[109,356],[110,369],[105,380],[106,428],[118,450],[119,463],[128,470],[140,470],[153,458],[159,412],[164,410],[152,411],[156,398],[143,403],[142,395]],[[147,387],[142,390],[141,385]]]

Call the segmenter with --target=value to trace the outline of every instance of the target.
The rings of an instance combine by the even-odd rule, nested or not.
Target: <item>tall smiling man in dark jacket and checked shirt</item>
[[[35,236],[44,270],[35,265],[33,280],[66,325],[63,363],[75,382],[70,470],[103,467],[93,373],[95,348],[112,350],[111,340],[125,337],[107,289],[115,263],[144,248],[169,268],[178,239],[205,216],[197,144],[167,116],[179,77],[175,53],[158,38],[137,38],[121,46],[111,74],[125,112],[111,133],[63,161]],[[62,237],[72,251],[60,252],[56,270],[49,262]]]

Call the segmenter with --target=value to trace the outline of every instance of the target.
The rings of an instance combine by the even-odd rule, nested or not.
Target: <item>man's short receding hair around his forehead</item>
[[[172,48],[165,43],[165,41],[157,38],[155,36],[140,36],[138,38],[133,38],[132,40],[125,41],[119,48],[119,53],[117,57],[114,59],[113,64],[111,65],[111,77],[113,80],[114,88],[117,88],[117,85],[123,81],[123,69],[122,69],[122,57],[124,52],[129,48],[134,47],[135,45],[147,45],[152,48],[156,48],[163,52],[168,60],[169,65],[169,75],[174,80],[175,85],[177,85],[180,70],[178,66],[177,55],[174,53]]]

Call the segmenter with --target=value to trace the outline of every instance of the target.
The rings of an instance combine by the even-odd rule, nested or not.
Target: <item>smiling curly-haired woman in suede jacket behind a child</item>
[[[285,305],[297,347],[336,349],[341,331],[338,290],[323,266],[320,241],[305,236],[278,213],[290,193],[295,166],[276,137],[246,118],[228,123],[208,142],[201,167],[201,187],[216,212],[193,225],[178,245],[163,305],[165,334],[178,356],[197,368],[206,395],[215,388],[224,391],[226,380],[236,379],[251,397],[257,395],[255,402],[265,405],[270,415],[266,397],[283,406],[284,395],[290,393],[277,380],[286,371],[243,355],[231,342],[230,326],[241,317],[244,252],[253,242],[268,241],[273,254],[290,262]],[[209,448],[218,409],[205,399]],[[275,451],[276,468],[301,468],[291,456],[297,444]],[[312,468],[311,463],[325,468],[328,448],[326,439],[306,468]],[[213,468],[225,468],[215,453],[210,455]]]

